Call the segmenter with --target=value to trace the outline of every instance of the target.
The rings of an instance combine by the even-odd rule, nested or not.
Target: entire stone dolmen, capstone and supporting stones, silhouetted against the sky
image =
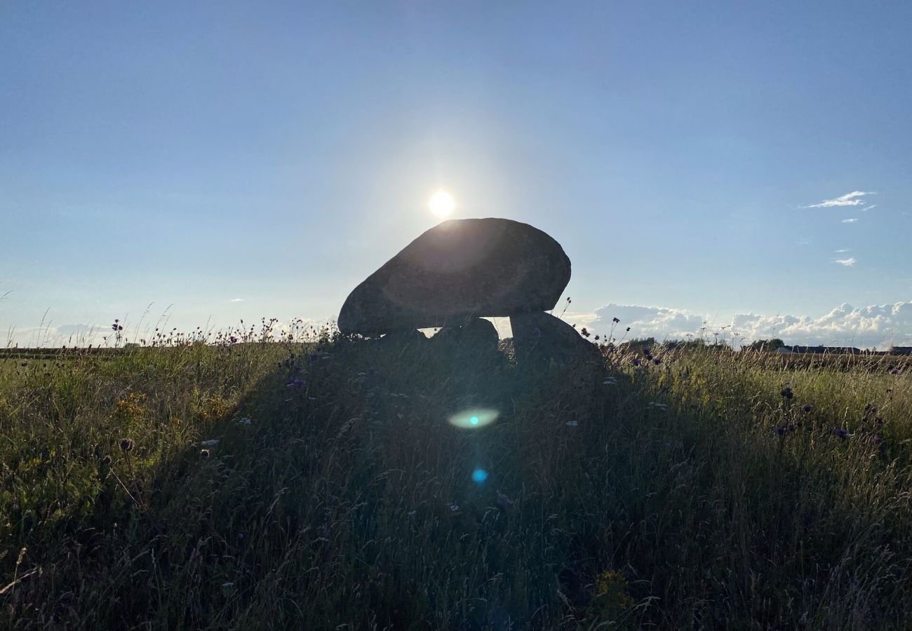
[[[428,340],[493,347],[494,326],[509,317],[519,365],[595,362],[594,344],[546,313],[570,280],[560,243],[509,219],[457,219],[421,234],[348,295],[337,325],[345,334],[414,340],[419,328],[440,328]]]

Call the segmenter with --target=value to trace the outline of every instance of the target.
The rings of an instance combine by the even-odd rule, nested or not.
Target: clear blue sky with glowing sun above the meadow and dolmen
[[[0,331],[330,318],[442,188],[562,243],[581,323],[905,341],[910,29],[905,2],[7,2]]]

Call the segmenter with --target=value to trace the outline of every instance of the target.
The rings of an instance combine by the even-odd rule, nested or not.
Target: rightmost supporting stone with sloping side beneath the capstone
[[[519,366],[548,367],[594,365],[601,361],[598,347],[586,341],[573,327],[554,315],[535,313],[512,315],[513,352]]]

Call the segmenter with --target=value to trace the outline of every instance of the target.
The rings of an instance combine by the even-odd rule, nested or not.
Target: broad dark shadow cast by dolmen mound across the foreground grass
[[[840,445],[657,398],[666,369],[307,349],[218,444],[154,470],[122,550],[77,564],[55,608],[87,627],[898,624],[903,515],[851,492],[865,473],[834,465]],[[448,422],[467,409],[498,416]]]

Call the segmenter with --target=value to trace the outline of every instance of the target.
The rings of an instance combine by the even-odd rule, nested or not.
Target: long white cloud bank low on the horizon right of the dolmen
[[[712,334],[724,326],[730,340],[743,337],[745,342],[779,337],[786,344],[882,349],[912,346],[912,301],[862,307],[843,304],[820,317],[736,314],[724,322],[673,307],[609,304],[596,309],[586,326],[600,333],[611,328],[615,317],[621,321],[621,334],[630,327],[628,338],[652,336],[661,341],[704,336],[711,340]],[[618,327],[616,337],[620,337]]]

